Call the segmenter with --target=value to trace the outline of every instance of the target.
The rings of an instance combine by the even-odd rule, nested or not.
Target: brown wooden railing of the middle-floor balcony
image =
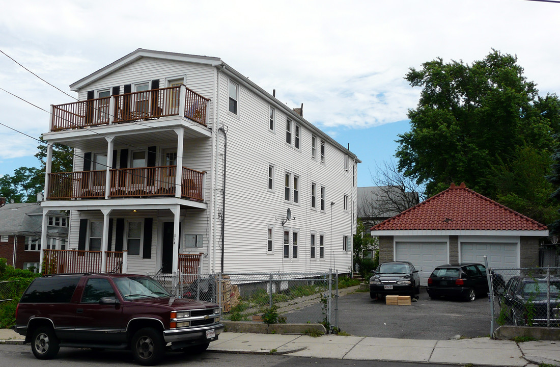
[[[49,173],[48,200],[76,200],[128,197],[178,197],[176,166]],[[180,197],[203,201],[205,172],[183,167]]]

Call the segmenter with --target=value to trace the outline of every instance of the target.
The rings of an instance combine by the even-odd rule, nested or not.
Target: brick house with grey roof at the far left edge
[[[0,207],[0,257],[8,265],[39,269],[42,215],[40,203],[8,203]],[[66,248],[68,215],[50,212],[46,223],[46,248]]]

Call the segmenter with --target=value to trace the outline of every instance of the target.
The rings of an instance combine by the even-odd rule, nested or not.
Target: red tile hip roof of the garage
[[[391,230],[521,230],[547,226],[465,187],[451,184],[435,196],[371,228]]]

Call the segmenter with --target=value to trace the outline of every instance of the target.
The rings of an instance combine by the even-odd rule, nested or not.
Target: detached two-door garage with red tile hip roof
[[[379,261],[408,260],[426,285],[433,268],[480,262],[492,268],[538,265],[547,227],[465,187],[451,184],[426,201],[371,228]]]

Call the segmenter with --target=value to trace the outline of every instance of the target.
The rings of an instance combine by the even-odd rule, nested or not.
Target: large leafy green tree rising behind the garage
[[[405,79],[422,92],[408,113],[410,131],[397,140],[399,170],[425,184],[428,196],[465,182],[550,220],[544,176],[560,131],[560,100],[539,96],[523,72],[515,56],[497,50],[470,65],[438,58],[411,68]]]

